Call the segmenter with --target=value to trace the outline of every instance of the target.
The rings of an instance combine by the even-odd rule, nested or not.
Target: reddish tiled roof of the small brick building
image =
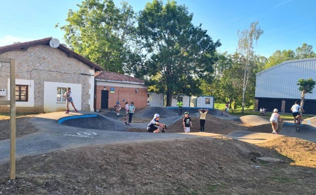
[[[108,81],[108,82],[117,82],[117,83],[135,83],[144,85],[144,81],[137,79],[133,76],[128,76],[125,74],[109,71],[98,71],[94,74],[95,79],[98,81]]]

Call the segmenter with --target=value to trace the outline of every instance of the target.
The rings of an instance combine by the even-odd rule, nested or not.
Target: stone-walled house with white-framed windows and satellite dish
[[[62,95],[67,87],[78,110],[94,111],[94,73],[103,68],[64,45],[52,47],[52,40],[56,41],[48,37],[0,47],[0,58],[15,59],[16,111],[66,110]],[[10,63],[0,63],[0,100],[10,100]],[[9,110],[9,105],[0,105],[0,112]]]

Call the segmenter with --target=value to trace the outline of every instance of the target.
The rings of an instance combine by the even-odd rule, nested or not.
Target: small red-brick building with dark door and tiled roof
[[[96,111],[114,109],[119,101],[122,110],[126,102],[134,102],[136,110],[147,106],[148,88],[143,80],[109,71],[95,73]]]

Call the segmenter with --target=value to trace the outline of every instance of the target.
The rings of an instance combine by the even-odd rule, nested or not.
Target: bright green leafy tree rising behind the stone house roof
[[[123,73],[123,66],[138,62],[135,48],[136,16],[131,6],[115,7],[112,0],[86,0],[69,10],[61,27],[69,47],[105,70]],[[58,25],[57,25],[58,26]]]

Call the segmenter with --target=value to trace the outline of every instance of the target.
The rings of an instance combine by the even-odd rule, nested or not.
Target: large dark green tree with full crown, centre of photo
[[[138,35],[147,52],[147,73],[155,91],[166,92],[167,106],[174,95],[201,93],[199,79],[212,79],[216,48],[206,30],[193,26],[187,8],[168,1],[147,3],[138,17]]]

